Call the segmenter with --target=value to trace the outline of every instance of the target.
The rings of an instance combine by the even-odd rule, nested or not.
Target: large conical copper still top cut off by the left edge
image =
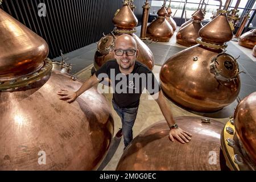
[[[0,9],[0,52],[1,82],[41,69],[49,48],[43,38]]]

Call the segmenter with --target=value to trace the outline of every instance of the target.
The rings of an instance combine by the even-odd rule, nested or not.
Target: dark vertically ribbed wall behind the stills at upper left
[[[46,16],[40,17],[39,3],[46,4]],[[135,0],[134,14],[141,24],[144,0]],[[4,0],[0,7],[25,24],[49,44],[49,57],[74,51],[97,42],[102,32],[109,34],[112,19],[122,0]]]

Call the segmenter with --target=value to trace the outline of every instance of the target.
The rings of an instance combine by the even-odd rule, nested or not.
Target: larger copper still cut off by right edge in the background
[[[253,49],[253,47],[256,45],[256,29],[242,34],[240,38],[238,38],[238,44],[240,46]]]

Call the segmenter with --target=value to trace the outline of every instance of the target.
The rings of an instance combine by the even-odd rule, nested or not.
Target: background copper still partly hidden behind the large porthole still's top
[[[196,39],[199,38],[199,30],[203,27],[201,23],[203,19],[204,13],[200,9],[193,14],[193,22],[187,24],[177,32],[176,43],[186,47],[196,45]]]

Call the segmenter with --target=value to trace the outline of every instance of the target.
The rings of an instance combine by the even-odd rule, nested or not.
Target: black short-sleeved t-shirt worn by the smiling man
[[[139,98],[144,90],[153,95],[159,92],[160,86],[154,74],[146,67],[135,61],[133,72],[125,75],[120,72],[116,60],[107,61],[95,73],[96,77],[103,81],[110,78],[114,89],[113,100],[121,108],[139,106]]]

